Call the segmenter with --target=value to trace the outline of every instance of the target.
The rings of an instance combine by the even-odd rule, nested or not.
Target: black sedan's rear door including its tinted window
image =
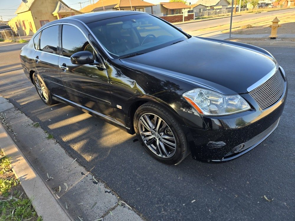
[[[34,39],[34,44],[37,46],[33,57],[37,72],[45,80],[51,93],[67,98],[58,68],[58,25],[44,29],[40,39]]]

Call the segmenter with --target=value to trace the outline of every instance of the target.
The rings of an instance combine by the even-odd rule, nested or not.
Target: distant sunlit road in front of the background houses
[[[256,14],[245,13],[245,14],[241,14],[241,16],[232,17],[232,23],[249,21],[251,19],[259,19],[259,18],[263,18],[263,17],[267,17],[267,16],[276,16],[279,14],[289,13],[289,12],[294,12],[294,11],[295,11],[295,8],[278,10],[278,11],[268,11],[268,12],[262,12],[262,13],[256,13]],[[192,31],[196,31],[199,29],[215,27],[215,26],[224,25],[224,24],[230,24],[230,17],[207,20],[207,21],[202,21],[202,22],[192,22],[192,23],[187,23],[187,24],[177,24],[176,26],[182,28],[183,31],[185,31],[185,32],[192,32]]]

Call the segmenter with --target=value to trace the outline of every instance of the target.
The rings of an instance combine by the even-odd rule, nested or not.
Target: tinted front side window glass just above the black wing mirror
[[[71,55],[79,51],[94,52],[82,32],[72,25],[63,25],[61,42],[63,56],[65,57],[71,57]]]

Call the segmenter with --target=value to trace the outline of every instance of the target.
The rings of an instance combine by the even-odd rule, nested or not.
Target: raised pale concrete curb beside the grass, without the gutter
[[[11,158],[11,166],[16,177],[20,180],[22,188],[31,199],[37,214],[44,221],[71,220],[58,204],[41,177],[30,165],[27,159],[15,144],[4,126],[0,126],[0,147],[4,154]]]

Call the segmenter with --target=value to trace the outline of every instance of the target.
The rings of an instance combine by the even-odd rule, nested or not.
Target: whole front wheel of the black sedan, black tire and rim
[[[144,149],[165,164],[179,164],[189,153],[186,136],[169,110],[145,103],[134,115],[134,129]]]

